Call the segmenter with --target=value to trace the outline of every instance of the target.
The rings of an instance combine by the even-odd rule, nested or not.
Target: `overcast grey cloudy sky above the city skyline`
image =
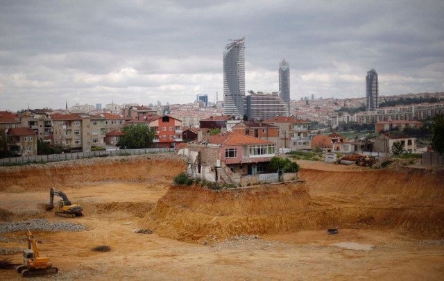
[[[444,1],[0,0],[0,110],[223,99],[222,53],[245,36],[246,90],[291,99],[444,92]]]

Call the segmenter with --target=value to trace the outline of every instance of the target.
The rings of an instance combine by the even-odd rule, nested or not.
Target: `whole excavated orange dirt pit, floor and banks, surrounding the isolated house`
[[[225,191],[171,187],[186,169],[172,155],[1,167],[0,223],[88,227],[34,231],[59,269],[34,280],[443,280],[443,170],[300,164],[305,182]],[[85,216],[43,211],[50,187]],[[3,234],[0,248],[26,247],[24,234]],[[100,245],[110,252],[91,250]],[[0,280],[20,279],[0,270]]]

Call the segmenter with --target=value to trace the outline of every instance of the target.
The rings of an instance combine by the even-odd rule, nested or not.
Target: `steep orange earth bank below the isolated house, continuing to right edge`
[[[141,227],[184,240],[271,235],[336,225],[444,236],[441,173],[417,169],[340,174],[302,170],[300,177],[306,182],[223,191],[171,187]]]

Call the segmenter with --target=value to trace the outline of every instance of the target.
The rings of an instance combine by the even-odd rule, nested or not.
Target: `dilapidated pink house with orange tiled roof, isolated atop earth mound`
[[[275,144],[232,132],[210,136],[205,144],[189,143],[179,151],[188,156],[190,176],[234,185],[255,184],[267,177]],[[275,175],[278,181],[278,175]]]

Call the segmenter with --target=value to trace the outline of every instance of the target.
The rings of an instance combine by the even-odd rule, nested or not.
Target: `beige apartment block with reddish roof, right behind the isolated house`
[[[264,120],[264,123],[279,127],[280,148],[311,149],[310,121],[280,116]]]

